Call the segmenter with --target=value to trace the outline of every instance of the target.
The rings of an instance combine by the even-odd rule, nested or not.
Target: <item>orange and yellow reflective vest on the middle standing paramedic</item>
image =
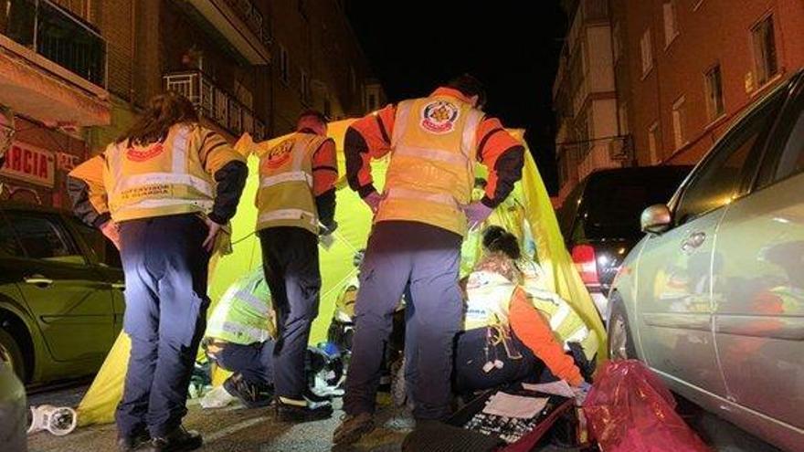
[[[312,155],[329,140],[313,133],[294,133],[259,154],[257,230],[295,226],[318,235],[318,210],[312,194]]]

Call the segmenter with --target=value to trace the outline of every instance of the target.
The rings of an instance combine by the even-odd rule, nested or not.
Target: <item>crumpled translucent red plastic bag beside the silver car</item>
[[[584,414],[604,452],[709,451],[675,406],[670,391],[644,364],[609,361],[587,395]]]

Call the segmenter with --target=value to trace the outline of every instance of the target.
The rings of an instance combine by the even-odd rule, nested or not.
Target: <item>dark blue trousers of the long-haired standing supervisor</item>
[[[164,436],[187,413],[187,387],[206,328],[209,254],[196,215],[168,215],[120,225],[125,273],[123,329],[132,352],[122,402],[121,434],[147,428]]]

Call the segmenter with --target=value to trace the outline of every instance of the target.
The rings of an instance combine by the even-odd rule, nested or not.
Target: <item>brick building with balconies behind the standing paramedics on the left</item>
[[[258,140],[291,131],[308,108],[333,119],[365,114],[368,91],[385,100],[343,8],[340,0],[0,0],[0,106],[16,112],[21,143],[6,163],[16,166],[0,170],[0,199],[66,206],[69,169],[164,89],[193,100],[205,125],[232,142],[246,131]],[[51,51],[58,33],[38,36],[39,23],[72,34],[79,58]],[[55,174],[22,171],[33,171],[33,158]]]

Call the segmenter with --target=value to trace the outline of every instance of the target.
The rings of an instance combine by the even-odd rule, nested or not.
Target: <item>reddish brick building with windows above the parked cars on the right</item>
[[[563,4],[559,197],[601,168],[697,163],[742,110],[804,65],[800,0]]]

